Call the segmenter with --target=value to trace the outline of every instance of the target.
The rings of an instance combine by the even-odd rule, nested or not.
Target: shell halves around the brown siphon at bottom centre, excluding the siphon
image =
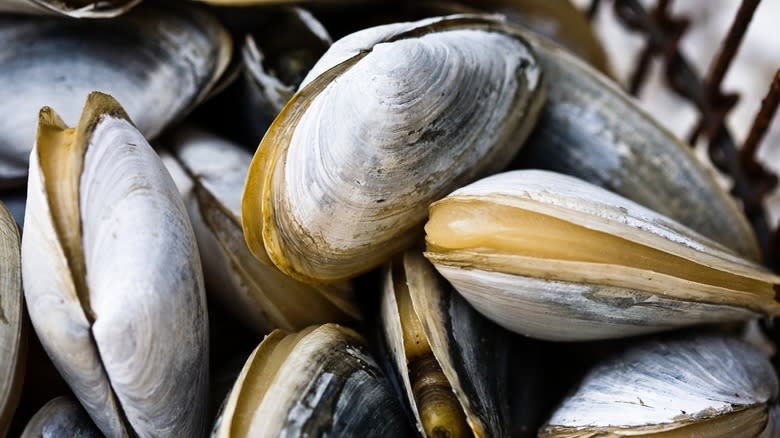
[[[400,270],[400,275],[394,275]],[[455,293],[421,253],[408,251],[384,274],[382,326],[393,369],[424,435],[412,392],[396,281],[408,286],[425,337],[476,437],[509,436],[507,389],[510,333],[477,313]]]

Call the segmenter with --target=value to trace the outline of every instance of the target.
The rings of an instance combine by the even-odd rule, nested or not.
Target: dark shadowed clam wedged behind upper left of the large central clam
[[[196,111],[199,127],[254,150],[317,59],[333,42],[306,9],[220,8],[233,34],[245,35],[233,60],[237,80]]]

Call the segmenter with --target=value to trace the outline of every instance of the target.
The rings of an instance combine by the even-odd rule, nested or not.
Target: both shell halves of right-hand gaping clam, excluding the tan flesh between
[[[429,228],[437,209],[462,202],[479,204],[471,207],[474,217],[492,205],[518,208],[755,280],[762,288],[734,290],[619,262],[438,246]],[[765,268],[669,218],[565,175],[528,170],[482,179],[434,203],[426,230],[425,255],[439,272],[481,313],[532,337],[605,339],[780,312],[772,291],[780,278]],[[459,235],[452,230],[453,239]]]

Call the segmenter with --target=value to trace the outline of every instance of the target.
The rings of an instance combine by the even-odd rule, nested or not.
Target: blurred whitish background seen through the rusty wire
[[[591,0],[572,0],[587,10]],[[645,47],[646,39],[620,23],[614,13],[614,2],[599,2],[593,25],[607,53],[615,78],[628,87]],[[648,10],[658,6],[657,0],[642,0]],[[690,20],[680,39],[680,51],[704,76],[716,55],[729,26],[740,7],[739,0],[678,0],[667,2],[668,16]],[[780,2],[760,2],[741,46],[723,80],[725,93],[738,93],[739,100],[726,119],[737,144],[746,138],[753,118],[759,110],[772,78],[780,68],[778,44]],[[664,63],[660,57],[650,61],[647,76],[638,97],[642,106],[682,139],[688,139],[694,129],[698,112],[687,100],[676,95],[665,84]],[[776,117],[777,118],[777,117]],[[699,138],[697,150],[704,153],[706,140]],[[758,150],[759,160],[775,174],[780,174],[780,123],[770,125],[766,138]],[[766,198],[769,222],[780,224],[780,190],[775,189]]]

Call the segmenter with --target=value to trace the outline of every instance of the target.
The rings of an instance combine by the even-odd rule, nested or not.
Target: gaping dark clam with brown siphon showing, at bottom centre
[[[509,436],[510,333],[451,291],[419,252],[389,264],[383,290],[387,351],[420,434]]]

